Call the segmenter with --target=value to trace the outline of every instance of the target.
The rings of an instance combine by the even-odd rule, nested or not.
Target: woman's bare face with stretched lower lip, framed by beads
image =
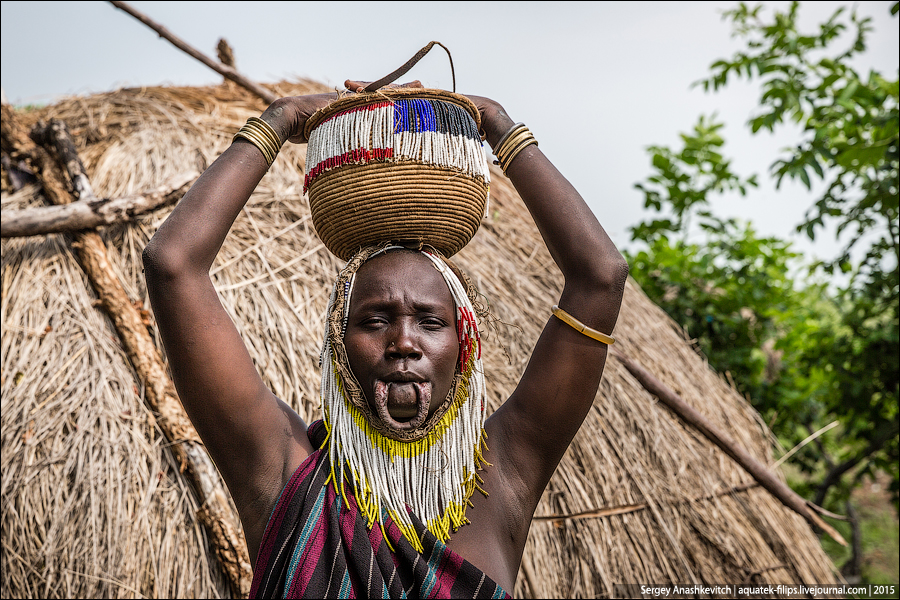
[[[420,426],[450,393],[459,359],[456,304],[431,261],[392,251],[363,264],[344,345],[382,421],[400,431]]]

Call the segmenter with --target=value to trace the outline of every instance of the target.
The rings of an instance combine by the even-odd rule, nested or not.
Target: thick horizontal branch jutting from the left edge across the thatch
[[[176,204],[199,177],[191,171],[155,190],[122,198],[92,198],[70,204],[3,211],[0,237],[27,237],[127,223],[157,208]]]

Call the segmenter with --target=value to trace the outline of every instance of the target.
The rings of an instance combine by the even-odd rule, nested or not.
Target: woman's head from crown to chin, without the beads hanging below
[[[420,439],[462,399],[472,373],[482,377],[472,296],[468,279],[430,249],[369,248],[338,277],[328,322],[336,377],[381,434]]]

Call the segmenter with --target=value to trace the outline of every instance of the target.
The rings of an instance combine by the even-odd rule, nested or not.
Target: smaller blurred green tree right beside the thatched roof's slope
[[[631,228],[646,250],[629,254],[644,291],[685,329],[710,364],[728,373],[738,389],[757,400],[766,385],[766,340],[775,316],[791,299],[789,245],[759,238],[749,225],[710,211],[714,196],[745,195],[755,177],[742,179],[722,153],[721,123],[700,117],[681,134],[683,147],[649,149],[655,173],[635,187],[646,208],[661,218]],[[702,242],[691,242],[694,237]]]

